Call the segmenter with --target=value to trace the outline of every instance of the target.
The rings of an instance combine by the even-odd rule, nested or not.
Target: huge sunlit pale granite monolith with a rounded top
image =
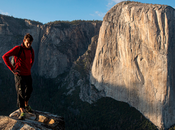
[[[158,128],[175,122],[175,10],[121,2],[99,32],[91,84],[137,108]]]

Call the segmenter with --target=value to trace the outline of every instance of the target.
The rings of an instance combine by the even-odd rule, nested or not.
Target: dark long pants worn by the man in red
[[[25,101],[29,100],[30,95],[33,91],[31,75],[29,76],[15,75],[15,86],[17,93],[17,105],[20,108],[24,108]]]

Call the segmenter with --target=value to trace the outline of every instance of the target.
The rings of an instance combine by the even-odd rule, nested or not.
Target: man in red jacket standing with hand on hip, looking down
[[[21,111],[19,116],[20,120],[25,119],[25,111],[32,112],[31,107],[28,105],[33,90],[31,67],[34,62],[34,50],[31,47],[32,42],[33,37],[27,33],[24,36],[21,46],[15,46],[2,56],[7,67],[14,74],[17,104]],[[15,66],[13,66],[9,60],[11,56],[14,56]]]

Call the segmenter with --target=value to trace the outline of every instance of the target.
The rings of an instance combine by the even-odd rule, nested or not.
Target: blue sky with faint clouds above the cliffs
[[[121,1],[124,0],[0,0],[0,14],[43,24],[53,21],[103,20],[105,14]],[[175,0],[137,2],[175,8]]]

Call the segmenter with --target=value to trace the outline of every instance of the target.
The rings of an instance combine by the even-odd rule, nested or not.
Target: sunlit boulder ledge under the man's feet
[[[7,116],[0,116],[1,130],[65,130],[62,117],[47,112],[34,111],[26,113],[25,120],[18,120],[20,110],[16,110]]]

